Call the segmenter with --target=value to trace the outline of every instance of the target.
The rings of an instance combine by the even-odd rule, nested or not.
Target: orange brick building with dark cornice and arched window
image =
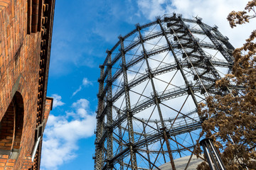
[[[55,0],[0,0],[0,170],[40,169]]]

